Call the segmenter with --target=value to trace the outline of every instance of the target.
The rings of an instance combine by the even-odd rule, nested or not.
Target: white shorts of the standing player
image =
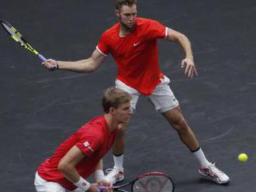
[[[154,88],[154,91],[148,98],[153,103],[154,108],[161,113],[170,111],[171,109],[178,106],[178,100],[175,98],[175,94],[171,91],[171,87],[168,85],[170,83],[170,79],[164,76],[164,79],[161,79],[161,83]],[[123,89],[128,92],[132,96],[131,105],[133,111],[136,109],[137,101],[140,98],[141,93],[134,89],[133,87],[129,87],[124,84],[122,81],[115,81],[116,87]]]

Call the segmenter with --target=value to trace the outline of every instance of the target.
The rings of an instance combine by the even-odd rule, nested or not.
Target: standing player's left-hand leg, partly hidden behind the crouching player
[[[116,87],[123,89],[124,91],[128,92],[132,96],[131,107],[133,108],[133,111],[135,111],[137,101],[140,98],[140,93],[137,90],[133,89],[132,87],[129,87],[123,82],[118,80],[116,80]],[[124,179],[123,157],[124,157],[124,150],[126,147],[125,130],[127,125],[123,124],[119,126],[122,129],[119,129],[119,132],[116,135],[116,140],[112,146],[114,167],[112,169],[108,169],[107,175],[106,175],[106,180],[113,184]]]

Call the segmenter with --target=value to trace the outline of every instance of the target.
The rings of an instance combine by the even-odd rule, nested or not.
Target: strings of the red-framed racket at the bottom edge
[[[133,192],[171,192],[173,184],[164,175],[147,175],[133,183]]]

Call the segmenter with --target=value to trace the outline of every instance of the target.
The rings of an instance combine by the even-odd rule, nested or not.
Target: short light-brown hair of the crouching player
[[[102,107],[104,112],[109,113],[109,108],[118,108],[119,105],[130,102],[132,97],[126,91],[117,87],[109,87],[104,92]]]

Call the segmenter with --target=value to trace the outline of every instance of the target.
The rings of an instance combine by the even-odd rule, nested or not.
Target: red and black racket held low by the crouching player
[[[131,185],[132,192],[174,192],[175,185],[171,177],[161,172],[144,173],[135,180],[124,183],[123,185],[114,186],[114,190],[126,192],[121,188]],[[104,191],[104,187],[100,188]]]

